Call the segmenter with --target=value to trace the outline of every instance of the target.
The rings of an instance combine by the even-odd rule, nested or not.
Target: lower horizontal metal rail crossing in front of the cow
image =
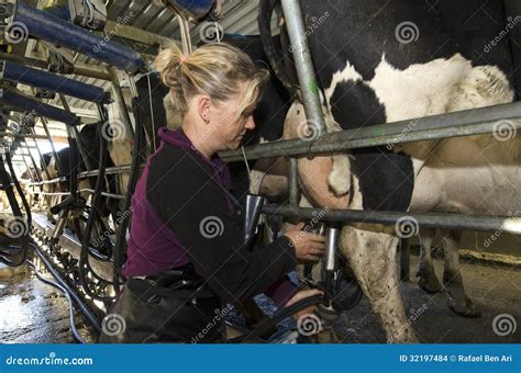
[[[421,228],[445,228],[479,231],[505,231],[521,234],[521,218],[510,216],[479,216],[462,214],[414,214],[389,211],[362,211],[362,210],[326,210],[326,208],[295,208],[291,206],[265,205],[263,213],[267,215],[281,215],[286,217],[317,218],[330,222],[356,222],[392,225],[410,224],[418,230]],[[400,225],[401,226],[401,225]],[[406,226],[407,227],[407,226]],[[398,228],[398,227],[397,227]]]

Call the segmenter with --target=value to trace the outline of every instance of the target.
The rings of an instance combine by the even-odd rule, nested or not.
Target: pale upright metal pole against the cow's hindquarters
[[[308,125],[314,126],[313,133],[320,136],[325,133],[325,122],[300,4],[298,0],[281,0],[281,3]]]

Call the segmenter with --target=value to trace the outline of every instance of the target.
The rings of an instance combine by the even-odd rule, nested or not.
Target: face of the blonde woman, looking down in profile
[[[221,139],[222,150],[239,148],[246,131],[255,128],[255,122],[253,121],[253,110],[255,108],[246,108],[237,113],[237,108],[241,105],[248,83],[242,83],[241,91],[229,101],[221,103],[219,106],[213,106],[211,123],[217,125],[215,135]]]

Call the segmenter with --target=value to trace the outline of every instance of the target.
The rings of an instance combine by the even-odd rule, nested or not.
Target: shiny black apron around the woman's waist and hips
[[[154,276],[130,278],[103,319],[100,343],[223,341],[221,302],[191,264]]]

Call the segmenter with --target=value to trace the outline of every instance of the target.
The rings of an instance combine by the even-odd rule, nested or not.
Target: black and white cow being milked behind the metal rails
[[[507,14],[502,0],[301,0],[300,4],[329,131],[514,100],[514,59],[520,55],[509,31],[521,27],[521,13]],[[288,116],[286,137],[297,137],[306,120],[302,108],[295,105]],[[462,191],[465,183],[477,183],[483,171],[486,188],[518,195],[519,135],[511,140],[507,147],[492,136],[473,136],[465,144],[446,139],[301,158],[299,176],[304,196],[317,206],[506,215],[501,208],[501,208],[492,208],[494,202],[483,204],[479,188],[473,188],[473,195]],[[483,157],[480,168],[473,168],[469,178],[455,173],[454,169],[467,172],[475,166],[473,151],[480,151],[475,155]],[[518,200],[513,205],[519,206]],[[395,227],[350,224],[342,230],[342,253],[388,341],[410,342],[417,339],[398,290],[397,244]],[[454,252],[447,250],[445,287],[453,309],[472,316]]]

